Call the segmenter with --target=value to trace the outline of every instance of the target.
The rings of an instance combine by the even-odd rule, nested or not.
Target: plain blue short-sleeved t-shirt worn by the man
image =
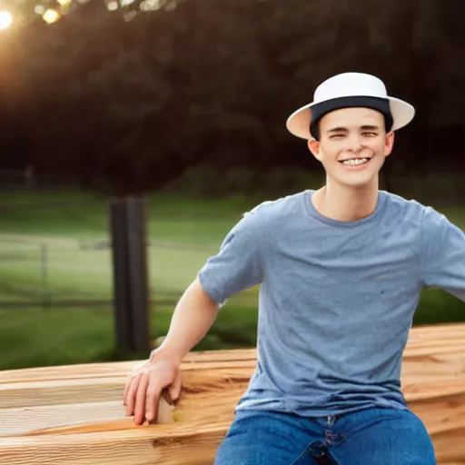
[[[384,191],[371,216],[332,220],[313,207],[312,193],[244,214],[199,272],[221,305],[260,284],[257,366],[236,409],[406,409],[401,361],[421,289],[465,302],[465,234],[434,209]]]

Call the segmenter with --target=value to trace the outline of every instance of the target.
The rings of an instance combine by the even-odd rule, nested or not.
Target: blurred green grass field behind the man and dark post
[[[150,200],[153,337],[224,235],[256,201]],[[444,210],[465,229],[465,211]],[[90,193],[0,193],[0,369],[116,360],[106,201]],[[255,343],[256,289],[233,297],[196,348]],[[465,320],[445,292],[423,292],[416,323]]]

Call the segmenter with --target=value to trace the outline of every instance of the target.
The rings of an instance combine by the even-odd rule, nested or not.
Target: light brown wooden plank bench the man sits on
[[[189,353],[172,424],[124,416],[131,362],[0,371],[0,464],[211,465],[255,367],[255,350]],[[438,463],[465,465],[465,324],[414,328],[402,390]]]

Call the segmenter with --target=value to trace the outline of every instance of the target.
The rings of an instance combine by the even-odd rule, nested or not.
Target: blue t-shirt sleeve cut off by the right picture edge
[[[440,287],[465,302],[465,233],[428,207],[423,214],[421,235],[424,285]]]

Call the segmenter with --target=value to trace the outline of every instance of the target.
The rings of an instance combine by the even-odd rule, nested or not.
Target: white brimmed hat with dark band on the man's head
[[[291,114],[286,127],[297,137],[313,140],[315,137],[311,133],[311,124],[316,115],[320,119],[332,110],[350,106],[368,106],[380,111],[385,108],[391,113],[391,131],[411,123],[415,115],[411,104],[388,95],[386,86],[378,77],[363,73],[343,73],[320,84],[315,90],[312,104],[302,106]]]

